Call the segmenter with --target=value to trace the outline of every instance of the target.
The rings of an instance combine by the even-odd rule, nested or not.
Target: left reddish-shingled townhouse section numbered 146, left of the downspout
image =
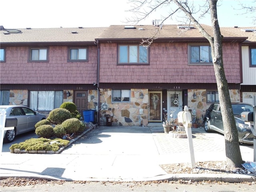
[[[103,30],[1,26],[1,105],[25,105],[46,114],[65,101],[80,112],[96,108],[95,37]]]

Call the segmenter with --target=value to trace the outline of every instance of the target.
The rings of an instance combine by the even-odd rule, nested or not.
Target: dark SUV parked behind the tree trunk
[[[242,112],[253,112],[253,106],[247,103],[232,103],[232,109],[238,130],[238,140],[241,143],[253,144],[253,134],[250,127],[241,120]],[[204,130],[211,130],[224,134],[222,115],[219,103],[213,103],[206,110],[204,115]]]

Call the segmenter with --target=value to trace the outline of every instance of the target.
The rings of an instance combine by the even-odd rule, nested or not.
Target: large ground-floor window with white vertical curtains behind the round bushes
[[[30,108],[35,111],[51,111],[62,103],[62,91],[30,91]]]

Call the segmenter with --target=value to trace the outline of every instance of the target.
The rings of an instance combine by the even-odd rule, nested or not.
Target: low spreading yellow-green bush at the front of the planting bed
[[[24,142],[12,144],[10,150],[47,150],[47,151],[58,151],[62,146],[66,146],[70,143],[68,140],[63,139],[46,139],[46,138],[31,138]]]

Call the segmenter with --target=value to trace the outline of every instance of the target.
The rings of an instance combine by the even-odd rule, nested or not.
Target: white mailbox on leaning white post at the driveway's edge
[[[195,156],[194,156],[194,146],[193,146],[193,141],[192,141],[192,116],[191,113],[188,111],[188,106],[184,106],[184,111],[181,111],[178,113],[178,122],[183,123],[187,138],[188,138],[188,145],[189,145],[189,150],[190,150],[190,159],[191,159],[191,168],[196,167],[196,162],[195,162]]]

